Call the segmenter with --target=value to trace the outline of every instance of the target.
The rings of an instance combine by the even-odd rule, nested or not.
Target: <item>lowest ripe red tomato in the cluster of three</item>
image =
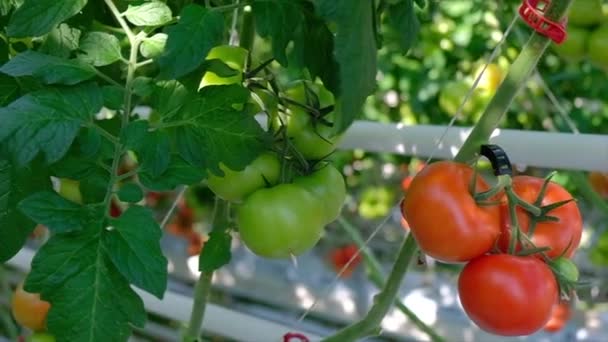
[[[559,292],[551,269],[541,260],[493,254],[464,267],[458,294],[464,311],[481,329],[520,336],[545,326]]]

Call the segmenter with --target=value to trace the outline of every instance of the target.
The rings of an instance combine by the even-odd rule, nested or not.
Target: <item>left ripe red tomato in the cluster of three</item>
[[[420,249],[443,262],[463,262],[488,252],[500,234],[498,206],[478,206],[469,194],[473,169],[440,161],[416,175],[401,202]],[[488,184],[477,177],[477,191]]]

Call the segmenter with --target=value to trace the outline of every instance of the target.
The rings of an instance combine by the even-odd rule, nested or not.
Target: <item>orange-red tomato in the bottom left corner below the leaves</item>
[[[37,293],[29,293],[20,284],[15,289],[11,303],[13,317],[20,325],[34,331],[46,328],[46,316],[51,308],[51,304],[40,299]]]

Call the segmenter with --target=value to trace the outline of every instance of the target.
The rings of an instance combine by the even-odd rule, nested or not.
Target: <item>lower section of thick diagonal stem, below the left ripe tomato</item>
[[[348,327],[336,332],[334,335],[323,339],[325,342],[342,342],[342,341],[357,341],[363,337],[378,334],[380,332],[380,324],[382,319],[391,308],[399,288],[401,281],[407,272],[407,269],[412,261],[412,258],[417,251],[416,241],[412,234],[409,234],[399,250],[397,260],[393,265],[391,274],[384,284],[384,287],[374,297],[374,305],[369,310],[367,315],[360,321],[349,325]]]

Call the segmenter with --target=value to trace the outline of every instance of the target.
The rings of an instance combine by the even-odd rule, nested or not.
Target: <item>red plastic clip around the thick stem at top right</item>
[[[568,18],[565,17],[560,23],[545,18],[545,11],[550,6],[551,0],[523,0],[519,7],[519,15],[536,32],[561,44],[567,37]]]

